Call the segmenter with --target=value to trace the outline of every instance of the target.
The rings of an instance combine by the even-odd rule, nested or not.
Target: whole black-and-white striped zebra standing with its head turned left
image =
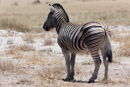
[[[67,67],[67,77],[64,81],[74,80],[74,65],[77,53],[86,53],[88,50],[94,60],[95,68],[88,83],[97,79],[101,59],[99,50],[103,56],[105,66],[104,79],[108,78],[108,62],[112,62],[112,49],[110,42],[110,31],[108,26],[99,22],[88,22],[75,25],[69,21],[69,17],[59,3],[49,4],[50,12],[43,29],[49,31],[56,28],[58,34],[57,42],[62,49]]]

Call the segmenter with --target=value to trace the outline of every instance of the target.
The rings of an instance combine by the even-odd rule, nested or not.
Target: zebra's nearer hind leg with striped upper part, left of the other
[[[91,55],[92,55],[92,58],[93,58],[94,63],[95,63],[95,69],[94,69],[93,75],[89,79],[88,83],[93,83],[94,80],[97,79],[98,71],[99,71],[100,64],[101,64],[101,59],[100,59],[98,53],[91,53]]]

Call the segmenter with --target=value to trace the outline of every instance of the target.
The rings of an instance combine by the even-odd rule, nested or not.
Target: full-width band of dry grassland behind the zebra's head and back
[[[38,5],[32,5],[32,2],[33,1],[25,0],[23,2],[8,2],[14,3],[14,6],[12,6],[12,4],[1,3],[0,28],[20,32],[43,31],[42,27],[39,28],[35,26],[43,25],[49,13],[48,4],[46,4],[46,2],[53,4],[54,1],[40,0],[41,4]],[[76,24],[82,24],[89,21],[99,21],[108,25],[130,24],[130,1],[128,0],[61,0],[56,2],[63,5],[70,21]]]

